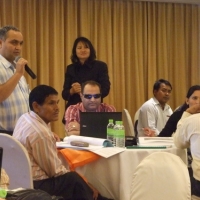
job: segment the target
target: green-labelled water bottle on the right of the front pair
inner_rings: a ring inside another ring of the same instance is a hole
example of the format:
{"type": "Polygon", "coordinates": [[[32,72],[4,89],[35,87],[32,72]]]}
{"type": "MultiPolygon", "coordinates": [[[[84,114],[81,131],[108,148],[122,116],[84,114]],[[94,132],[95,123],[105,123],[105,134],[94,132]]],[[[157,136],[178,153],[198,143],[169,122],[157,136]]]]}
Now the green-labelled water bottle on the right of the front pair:
{"type": "Polygon", "coordinates": [[[125,147],[125,130],[122,121],[118,121],[116,128],[116,147],[125,147]]]}

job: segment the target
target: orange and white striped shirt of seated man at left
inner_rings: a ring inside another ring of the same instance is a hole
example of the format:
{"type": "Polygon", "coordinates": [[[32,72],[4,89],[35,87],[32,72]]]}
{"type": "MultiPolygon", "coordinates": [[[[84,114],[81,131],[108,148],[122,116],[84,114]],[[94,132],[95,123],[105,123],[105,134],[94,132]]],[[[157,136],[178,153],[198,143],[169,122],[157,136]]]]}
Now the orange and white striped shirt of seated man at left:
{"type": "Polygon", "coordinates": [[[56,140],[50,125],[47,125],[33,111],[25,113],[19,118],[13,136],[28,151],[34,181],[56,177],[68,172],[58,158],[56,140]]]}

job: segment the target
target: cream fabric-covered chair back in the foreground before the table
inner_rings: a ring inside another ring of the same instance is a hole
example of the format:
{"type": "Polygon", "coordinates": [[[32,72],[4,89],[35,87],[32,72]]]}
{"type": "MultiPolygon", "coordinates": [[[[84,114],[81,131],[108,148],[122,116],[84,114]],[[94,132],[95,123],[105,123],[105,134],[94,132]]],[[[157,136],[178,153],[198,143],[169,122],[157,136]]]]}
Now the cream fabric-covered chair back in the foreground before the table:
{"type": "Polygon", "coordinates": [[[168,152],[155,152],[137,166],[130,200],[149,199],[191,199],[189,173],[180,157],[168,152]]]}

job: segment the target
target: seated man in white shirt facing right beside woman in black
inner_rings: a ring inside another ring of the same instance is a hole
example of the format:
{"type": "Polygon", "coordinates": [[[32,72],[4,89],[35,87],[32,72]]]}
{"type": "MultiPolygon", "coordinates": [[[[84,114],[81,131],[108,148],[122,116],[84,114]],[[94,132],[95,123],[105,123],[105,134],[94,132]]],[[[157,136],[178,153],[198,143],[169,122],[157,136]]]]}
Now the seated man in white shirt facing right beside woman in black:
{"type": "Polygon", "coordinates": [[[154,97],[146,101],[139,109],[138,136],[147,136],[148,131],[155,131],[159,135],[172,114],[167,104],[171,96],[172,86],[169,81],[159,79],[153,86],[154,97]]]}

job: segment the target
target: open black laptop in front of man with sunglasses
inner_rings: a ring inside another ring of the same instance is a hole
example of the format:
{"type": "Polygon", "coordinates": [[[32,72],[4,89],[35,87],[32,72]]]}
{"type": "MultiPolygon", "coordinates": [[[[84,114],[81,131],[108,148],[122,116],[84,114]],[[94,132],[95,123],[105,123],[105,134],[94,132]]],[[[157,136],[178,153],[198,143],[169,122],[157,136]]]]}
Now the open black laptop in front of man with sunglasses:
{"type": "Polygon", "coordinates": [[[122,121],[122,112],[80,112],[80,136],[106,139],[109,119],[122,121]]]}

